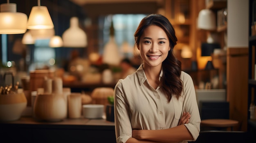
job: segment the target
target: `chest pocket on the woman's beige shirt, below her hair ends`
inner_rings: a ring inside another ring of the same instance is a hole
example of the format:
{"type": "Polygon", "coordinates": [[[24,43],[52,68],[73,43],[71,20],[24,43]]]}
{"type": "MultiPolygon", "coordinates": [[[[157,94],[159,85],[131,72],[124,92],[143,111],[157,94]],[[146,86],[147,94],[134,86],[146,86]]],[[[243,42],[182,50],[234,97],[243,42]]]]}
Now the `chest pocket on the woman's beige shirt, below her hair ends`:
{"type": "Polygon", "coordinates": [[[182,117],[182,112],[184,112],[183,111],[184,98],[183,96],[179,97],[179,99],[177,99],[176,97],[172,97],[171,101],[173,102],[174,118],[177,120],[180,120],[180,118],[182,117]]]}

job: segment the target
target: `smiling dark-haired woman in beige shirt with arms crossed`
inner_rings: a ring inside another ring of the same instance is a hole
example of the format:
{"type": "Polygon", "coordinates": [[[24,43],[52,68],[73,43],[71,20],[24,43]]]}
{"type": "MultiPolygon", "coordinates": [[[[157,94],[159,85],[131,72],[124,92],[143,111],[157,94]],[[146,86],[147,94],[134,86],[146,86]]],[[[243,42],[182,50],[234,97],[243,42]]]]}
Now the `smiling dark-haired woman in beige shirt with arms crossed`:
{"type": "Polygon", "coordinates": [[[191,77],[174,54],[173,26],[163,15],[142,19],[135,44],[143,64],[115,86],[117,143],[187,143],[200,132],[191,77]]]}

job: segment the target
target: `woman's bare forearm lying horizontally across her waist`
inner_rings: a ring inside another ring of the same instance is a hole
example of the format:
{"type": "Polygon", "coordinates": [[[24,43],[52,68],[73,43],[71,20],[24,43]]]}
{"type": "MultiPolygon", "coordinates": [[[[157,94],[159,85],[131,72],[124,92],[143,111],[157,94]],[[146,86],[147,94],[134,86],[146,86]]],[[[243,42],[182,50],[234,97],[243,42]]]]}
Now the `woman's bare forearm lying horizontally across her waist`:
{"type": "Polygon", "coordinates": [[[193,136],[185,125],[164,130],[137,130],[135,138],[139,140],[150,140],[159,142],[179,142],[193,140],[193,136]],[[138,132],[137,132],[138,131],[138,132]]]}

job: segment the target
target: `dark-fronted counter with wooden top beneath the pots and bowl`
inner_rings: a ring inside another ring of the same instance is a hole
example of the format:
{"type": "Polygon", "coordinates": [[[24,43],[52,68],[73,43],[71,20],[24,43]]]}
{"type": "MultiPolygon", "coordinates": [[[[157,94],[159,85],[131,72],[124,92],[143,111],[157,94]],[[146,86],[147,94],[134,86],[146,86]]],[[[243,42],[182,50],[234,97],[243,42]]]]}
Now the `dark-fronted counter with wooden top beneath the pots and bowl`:
{"type": "Polygon", "coordinates": [[[105,119],[39,122],[31,117],[0,123],[1,143],[115,143],[115,123],[105,119]]]}

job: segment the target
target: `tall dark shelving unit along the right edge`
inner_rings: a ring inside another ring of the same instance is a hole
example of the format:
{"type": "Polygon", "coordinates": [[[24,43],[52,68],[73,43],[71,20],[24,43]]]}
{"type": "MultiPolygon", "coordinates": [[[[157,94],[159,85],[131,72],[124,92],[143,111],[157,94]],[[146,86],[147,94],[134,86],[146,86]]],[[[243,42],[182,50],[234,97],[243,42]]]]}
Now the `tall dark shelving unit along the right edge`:
{"type": "MultiPolygon", "coordinates": [[[[251,24],[256,19],[253,18],[253,15],[256,14],[254,11],[256,7],[254,6],[256,0],[249,0],[249,55],[248,55],[248,131],[256,133],[256,120],[250,119],[250,104],[256,104],[256,80],[255,80],[255,68],[256,64],[256,35],[252,35],[251,24]]],[[[254,137],[255,138],[255,137],[254,137]]]]}

